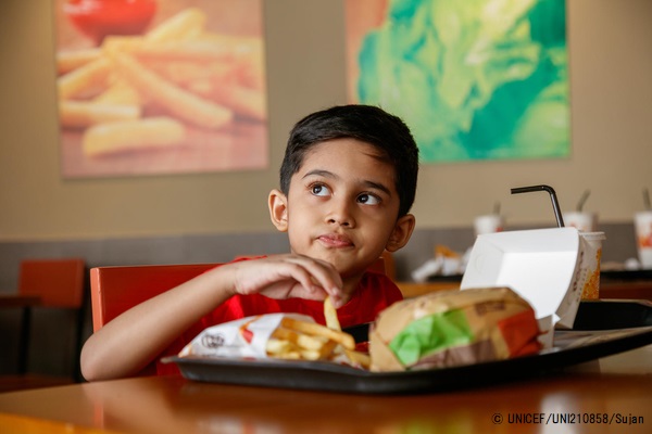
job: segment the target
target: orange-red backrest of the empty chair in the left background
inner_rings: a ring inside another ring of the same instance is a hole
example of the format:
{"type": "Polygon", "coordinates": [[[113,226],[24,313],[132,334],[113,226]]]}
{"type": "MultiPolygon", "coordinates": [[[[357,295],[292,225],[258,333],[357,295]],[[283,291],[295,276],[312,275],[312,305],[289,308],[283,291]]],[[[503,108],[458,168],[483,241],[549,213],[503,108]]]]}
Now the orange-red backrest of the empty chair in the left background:
{"type": "Polygon", "coordinates": [[[86,263],[82,258],[24,259],[18,292],[38,296],[40,306],[80,308],[85,277],[86,263]]]}

